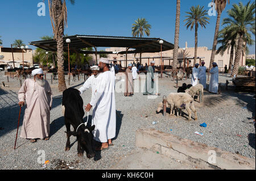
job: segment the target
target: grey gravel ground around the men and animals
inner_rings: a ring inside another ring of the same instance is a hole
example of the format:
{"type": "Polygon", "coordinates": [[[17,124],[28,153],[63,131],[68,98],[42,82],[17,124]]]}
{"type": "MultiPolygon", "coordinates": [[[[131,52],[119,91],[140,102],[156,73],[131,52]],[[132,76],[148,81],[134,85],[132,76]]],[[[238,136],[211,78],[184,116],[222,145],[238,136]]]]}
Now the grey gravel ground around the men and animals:
{"type": "MultiPolygon", "coordinates": [[[[81,81],[71,81],[68,87],[79,88],[81,81]]],[[[118,78],[119,79],[119,78],[118,78]]],[[[204,91],[203,102],[195,101],[198,120],[187,121],[187,112],[183,117],[156,113],[156,107],[162,101],[163,95],[176,92],[176,82],[172,78],[159,79],[159,92],[161,96],[156,99],[148,99],[141,92],[136,92],[132,97],[125,97],[123,93],[115,93],[117,110],[117,136],[113,140],[114,146],[108,150],[99,151],[92,159],[77,157],[77,141],[71,137],[71,150],[65,152],[67,138],[64,131],[64,117],[61,112],[61,95],[57,90],[57,81],[51,85],[53,90],[53,106],[51,110],[51,137],[48,141],[38,140],[32,144],[29,140],[19,138],[23,121],[23,112],[20,115],[19,133],[14,148],[16,128],[18,124],[18,95],[19,81],[14,78],[7,78],[0,73],[0,169],[110,169],[135,147],[135,132],[139,128],[155,128],[159,131],[174,134],[182,138],[201,142],[232,153],[241,154],[245,157],[255,158],[255,127],[251,123],[243,123],[255,116],[255,94],[234,92],[234,86],[227,74],[220,74],[219,82],[225,85],[229,79],[229,91],[221,94],[210,94],[204,91]],[[10,87],[2,87],[2,81],[10,87]],[[152,125],[152,121],[159,121],[152,125]],[[206,123],[207,127],[200,127],[206,123]],[[171,130],[170,130],[171,129],[171,130]],[[203,136],[195,132],[204,133],[203,136]],[[240,136],[237,136],[240,135],[240,136]],[[49,160],[46,167],[42,167],[43,155],[49,160]]],[[[117,80],[118,81],[118,80],[117,80]]],[[[51,83],[51,80],[48,79],[51,83]]],[[[191,79],[179,82],[181,84],[191,82],[191,79]]],[[[120,83],[120,82],[119,82],[120,83]]],[[[68,85],[68,82],[67,82],[68,85]]],[[[117,83],[118,85],[118,83],[117,83]]],[[[82,94],[84,105],[90,100],[91,93],[86,91],[82,94]]],[[[168,109],[167,109],[168,111],[168,109]]],[[[92,111],[89,112],[90,115],[92,111]]],[[[89,123],[91,116],[89,115],[89,123]]],[[[84,120],[87,119],[85,115],[84,120]]]]}

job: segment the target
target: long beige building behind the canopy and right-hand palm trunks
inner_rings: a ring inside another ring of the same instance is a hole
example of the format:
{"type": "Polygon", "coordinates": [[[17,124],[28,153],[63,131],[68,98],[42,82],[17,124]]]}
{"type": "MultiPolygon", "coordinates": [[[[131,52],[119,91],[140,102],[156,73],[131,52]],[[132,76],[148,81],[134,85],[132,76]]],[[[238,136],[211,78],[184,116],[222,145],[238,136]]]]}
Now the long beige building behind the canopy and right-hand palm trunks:
{"type": "MultiPolygon", "coordinates": [[[[112,51],[112,52],[120,52],[120,51],[125,51],[126,48],[106,48],[106,51],[112,51]]],[[[210,64],[210,55],[212,53],[212,50],[208,50],[207,47],[198,47],[197,48],[197,63],[201,61],[205,62],[205,66],[209,68],[210,64]]],[[[185,50],[183,48],[179,48],[178,52],[178,60],[179,60],[179,65],[178,66],[184,66],[184,60],[185,60],[185,66],[187,67],[187,63],[189,64],[188,66],[193,66],[193,57],[195,54],[195,48],[194,47],[187,47],[187,43],[185,45],[185,50]]],[[[117,63],[119,64],[121,62],[122,66],[125,66],[125,56],[126,54],[109,54],[109,59],[110,60],[117,60],[117,63]]],[[[156,53],[142,53],[142,64],[145,65],[148,62],[151,62],[152,60],[155,61],[155,65],[159,66],[160,65],[160,56],[161,52],[156,52],[156,53]]],[[[173,50],[167,50],[162,52],[162,60],[164,62],[164,65],[172,65],[173,61],[173,50]]],[[[137,58],[138,62],[139,61],[139,53],[137,54],[127,54],[127,64],[132,63],[133,61],[137,63],[137,58]]],[[[218,64],[218,68],[224,68],[225,65],[228,66],[229,68],[229,58],[230,58],[230,50],[226,50],[226,52],[221,55],[221,54],[216,54],[215,55],[215,60],[218,64]]],[[[240,60],[240,66],[245,65],[245,56],[241,57],[240,60]]]]}

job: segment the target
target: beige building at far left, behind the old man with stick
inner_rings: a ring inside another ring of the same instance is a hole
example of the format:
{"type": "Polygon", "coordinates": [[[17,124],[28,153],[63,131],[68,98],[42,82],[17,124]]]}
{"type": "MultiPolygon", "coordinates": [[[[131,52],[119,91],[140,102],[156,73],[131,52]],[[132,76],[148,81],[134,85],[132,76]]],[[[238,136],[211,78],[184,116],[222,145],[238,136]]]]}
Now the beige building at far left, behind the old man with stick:
{"type": "Polygon", "coordinates": [[[0,46],[0,66],[4,65],[7,66],[8,64],[15,68],[18,68],[20,65],[23,64],[24,60],[24,66],[27,66],[28,68],[33,66],[33,61],[32,61],[32,53],[33,50],[28,48],[28,49],[22,49],[20,48],[5,48],[0,46]],[[13,52],[13,53],[12,53],[13,52]],[[22,55],[23,54],[23,55],[22,55]],[[13,63],[14,60],[14,63],[13,63]]]}

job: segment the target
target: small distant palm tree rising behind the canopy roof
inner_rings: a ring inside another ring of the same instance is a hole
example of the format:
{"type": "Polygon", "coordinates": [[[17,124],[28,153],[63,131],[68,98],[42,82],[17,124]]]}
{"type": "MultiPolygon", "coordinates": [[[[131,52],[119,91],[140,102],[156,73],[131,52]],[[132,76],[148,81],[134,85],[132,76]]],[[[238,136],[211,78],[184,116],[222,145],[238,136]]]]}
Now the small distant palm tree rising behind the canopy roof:
{"type": "MultiPolygon", "coordinates": [[[[150,28],[151,25],[148,24],[145,18],[137,19],[135,20],[135,23],[133,24],[133,27],[131,27],[131,34],[133,37],[142,37],[144,33],[146,33],[147,36],[150,36],[150,28]],[[144,33],[143,33],[144,32],[144,33]]],[[[139,53],[139,58],[141,60],[141,54],[139,53]]]]}

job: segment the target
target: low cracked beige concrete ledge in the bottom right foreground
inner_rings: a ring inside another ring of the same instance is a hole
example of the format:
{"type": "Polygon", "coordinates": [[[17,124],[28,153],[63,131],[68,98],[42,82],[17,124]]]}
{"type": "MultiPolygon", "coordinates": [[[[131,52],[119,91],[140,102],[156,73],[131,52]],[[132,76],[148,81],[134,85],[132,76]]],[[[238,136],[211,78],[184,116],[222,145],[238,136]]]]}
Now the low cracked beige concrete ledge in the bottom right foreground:
{"type": "Polygon", "coordinates": [[[136,146],[159,151],[202,169],[255,170],[255,159],[183,139],[155,129],[138,129],[136,146]]]}

